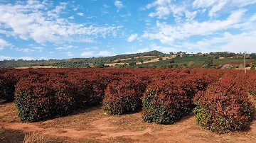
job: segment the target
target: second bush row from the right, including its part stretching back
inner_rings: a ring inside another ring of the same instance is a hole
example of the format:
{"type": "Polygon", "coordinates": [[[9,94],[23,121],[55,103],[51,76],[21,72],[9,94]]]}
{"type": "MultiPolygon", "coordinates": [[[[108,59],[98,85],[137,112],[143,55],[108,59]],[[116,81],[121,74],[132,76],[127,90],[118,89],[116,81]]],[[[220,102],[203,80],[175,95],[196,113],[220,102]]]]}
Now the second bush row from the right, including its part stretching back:
{"type": "Polygon", "coordinates": [[[193,96],[215,78],[198,76],[187,70],[170,79],[154,81],[143,96],[143,119],[146,122],[173,124],[193,109],[193,96]]]}

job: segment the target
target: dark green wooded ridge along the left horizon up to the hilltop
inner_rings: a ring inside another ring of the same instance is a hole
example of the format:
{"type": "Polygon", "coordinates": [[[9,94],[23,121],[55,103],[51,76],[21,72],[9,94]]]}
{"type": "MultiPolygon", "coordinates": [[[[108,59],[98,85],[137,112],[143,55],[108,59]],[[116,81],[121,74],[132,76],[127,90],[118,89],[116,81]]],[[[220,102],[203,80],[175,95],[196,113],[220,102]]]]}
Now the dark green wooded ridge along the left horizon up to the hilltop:
{"type": "Polygon", "coordinates": [[[0,61],[0,68],[33,67],[33,66],[53,66],[53,67],[101,67],[102,64],[109,64],[114,60],[126,59],[143,56],[164,56],[159,51],[150,51],[129,55],[116,55],[112,57],[92,57],[92,58],[73,58],[73,59],[48,59],[48,60],[4,60],[0,61]]]}

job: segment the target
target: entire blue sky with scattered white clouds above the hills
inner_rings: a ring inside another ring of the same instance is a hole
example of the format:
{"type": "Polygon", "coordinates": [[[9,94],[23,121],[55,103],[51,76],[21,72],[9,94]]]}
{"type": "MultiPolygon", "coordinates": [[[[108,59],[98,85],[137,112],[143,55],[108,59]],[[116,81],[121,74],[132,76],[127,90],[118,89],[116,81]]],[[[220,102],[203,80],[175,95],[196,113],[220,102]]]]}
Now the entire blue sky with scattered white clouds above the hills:
{"type": "Polygon", "coordinates": [[[256,0],[0,0],[0,60],[256,52],[256,0]]]}

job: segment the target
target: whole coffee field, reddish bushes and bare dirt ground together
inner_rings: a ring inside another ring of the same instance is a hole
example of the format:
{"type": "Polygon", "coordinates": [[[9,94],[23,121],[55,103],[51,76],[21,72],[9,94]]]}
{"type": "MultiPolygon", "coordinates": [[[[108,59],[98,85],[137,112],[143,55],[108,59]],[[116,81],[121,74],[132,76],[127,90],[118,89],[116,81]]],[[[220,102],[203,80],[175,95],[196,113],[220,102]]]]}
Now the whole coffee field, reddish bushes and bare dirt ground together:
{"type": "Polygon", "coordinates": [[[0,69],[0,142],[255,142],[255,81],[252,70],[0,69]]]}

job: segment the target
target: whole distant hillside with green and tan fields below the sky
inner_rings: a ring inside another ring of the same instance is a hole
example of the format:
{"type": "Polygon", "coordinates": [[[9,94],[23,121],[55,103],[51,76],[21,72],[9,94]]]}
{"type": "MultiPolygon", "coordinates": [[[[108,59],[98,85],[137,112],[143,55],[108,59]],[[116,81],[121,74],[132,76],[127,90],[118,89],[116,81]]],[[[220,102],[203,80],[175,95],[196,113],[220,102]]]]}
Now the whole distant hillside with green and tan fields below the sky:
{"type": "MultiPolygon", "coordinates": [[[[210,52],[188,54],[187,52],[170,52],[164,54],[159,51],[150,51],[137,54],[116,55],[112,57],[92,57],[73,59],[48,60],[4,60],[0,61],[0,68],[17,67],[202,67],[208,62],[210,68],[220,67],[223,64],[243,64],[245,55],[233,52],[210,52]],[[191,66],[193,65],[193,66],[191,66]]],[[[246,55],[247,66],[256,63],[256,54],[246,55]]],[[[251,66],[251,65],[250,65],[251,66]]]]}

